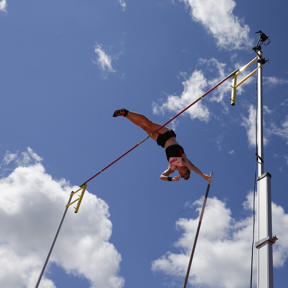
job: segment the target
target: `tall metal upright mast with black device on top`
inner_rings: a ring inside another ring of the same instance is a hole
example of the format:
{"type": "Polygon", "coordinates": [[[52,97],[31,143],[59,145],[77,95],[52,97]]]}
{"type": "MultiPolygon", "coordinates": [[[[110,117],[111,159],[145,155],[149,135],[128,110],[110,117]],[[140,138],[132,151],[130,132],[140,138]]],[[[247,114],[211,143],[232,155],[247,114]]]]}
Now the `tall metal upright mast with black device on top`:
{"type": "Polygon", "coordinates": [[[259,41],[253,49],[257,53],[257,160],[258,160],[258,237],[255,243],[257,248],[257,288],[273,288],[273,251],[272,245],[277,240],[272,237],[272,209],[271,209],[271,174],[264,173],[263,149],[263,92],[262,92],[262,65],[267,62],[262,56],[261,44],[270,42],[269,35],[259,31],[259,41]],[[267,42],[269,41],[269,42],[267,42]],[[261,44],[259,45],[259,43],[261,44]],[[259,46],[258,46],[259,45],[259,46]]]}

